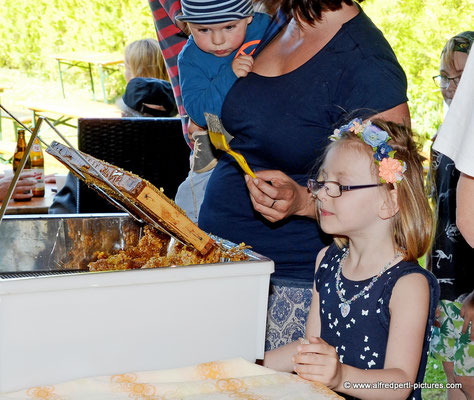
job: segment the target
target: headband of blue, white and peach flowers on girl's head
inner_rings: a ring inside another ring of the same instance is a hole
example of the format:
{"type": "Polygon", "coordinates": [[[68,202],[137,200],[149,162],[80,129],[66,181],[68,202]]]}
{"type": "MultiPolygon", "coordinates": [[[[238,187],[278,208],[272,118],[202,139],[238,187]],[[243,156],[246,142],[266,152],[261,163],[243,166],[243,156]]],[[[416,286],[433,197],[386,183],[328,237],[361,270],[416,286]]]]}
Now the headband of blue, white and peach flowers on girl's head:
{"type": "Polygon", "coordinates": [[[347,125],[335,129],[329,139],[332,141],[339,140],[351,133],[372,147],[375,164],[379,167],[380,182],[399,183],[403,179],[403,173],[407,169],[406,163],[394,157],[396,151],[387,144],[391,139],[387,132],[376,125],[372,125],[370,120],[363,123],[360,118],[355,118],[347,125]]]}

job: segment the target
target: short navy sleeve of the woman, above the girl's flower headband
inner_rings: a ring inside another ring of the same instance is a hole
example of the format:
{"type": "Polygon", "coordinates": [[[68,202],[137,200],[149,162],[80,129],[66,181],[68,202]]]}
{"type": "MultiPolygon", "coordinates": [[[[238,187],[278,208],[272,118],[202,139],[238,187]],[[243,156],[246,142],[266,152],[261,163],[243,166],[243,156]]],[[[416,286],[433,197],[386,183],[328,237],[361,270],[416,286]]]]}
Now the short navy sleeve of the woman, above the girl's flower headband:
{"type": "Polygon", "coordinates": [[[340,76],[339,104],[361,118],[389,110],[408,101],[403,69],[392,60],[369,56],[350,64],[340,76]]]}

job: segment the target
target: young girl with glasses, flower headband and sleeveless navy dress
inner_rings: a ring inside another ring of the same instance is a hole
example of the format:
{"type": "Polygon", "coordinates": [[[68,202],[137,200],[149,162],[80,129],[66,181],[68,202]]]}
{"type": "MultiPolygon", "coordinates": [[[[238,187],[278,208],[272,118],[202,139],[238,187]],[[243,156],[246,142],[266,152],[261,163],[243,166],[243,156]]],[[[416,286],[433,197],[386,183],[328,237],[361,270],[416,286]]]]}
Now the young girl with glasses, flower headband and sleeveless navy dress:
{"type": "Polygon", "coordinates": [[[433,229],[421,158],[409,128],[382,120],[353,120],[331,139],[308,182],[335,243],[316,260],[306,344],[267,352],[265,366],[357,398],[421,398],[439,297],[416,261],[433,229]]]}

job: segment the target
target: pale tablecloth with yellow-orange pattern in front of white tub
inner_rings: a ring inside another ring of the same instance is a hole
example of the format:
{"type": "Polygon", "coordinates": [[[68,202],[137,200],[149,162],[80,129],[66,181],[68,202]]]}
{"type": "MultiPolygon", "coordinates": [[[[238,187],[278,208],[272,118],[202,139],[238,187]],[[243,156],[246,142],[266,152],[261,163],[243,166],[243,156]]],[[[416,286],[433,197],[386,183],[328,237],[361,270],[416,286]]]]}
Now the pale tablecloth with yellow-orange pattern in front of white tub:
{"type": "Polygon", "coordinates": [[[341,399],[327,387],[243,359],[163,371],[100,376],[4,393],[1,399],[197,400],[341,399]]]}

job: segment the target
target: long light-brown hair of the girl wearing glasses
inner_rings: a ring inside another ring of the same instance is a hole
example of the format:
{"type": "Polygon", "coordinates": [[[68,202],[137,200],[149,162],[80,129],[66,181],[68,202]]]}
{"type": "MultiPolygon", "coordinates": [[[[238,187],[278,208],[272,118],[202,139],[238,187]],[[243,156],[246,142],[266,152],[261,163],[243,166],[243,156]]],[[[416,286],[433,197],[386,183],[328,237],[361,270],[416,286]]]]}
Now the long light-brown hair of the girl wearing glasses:
{"type": "MultiPolygon", "coordinates": [[[[424,188],[422,165],[424,157],[420,155],[414,133],[409,127],[382,119],[374,119],[372,124],[388,133],[391,138],[388,144],[396,151],[394,158],[406,165],[403,179],[399,183],[387,183],[383,187],[387,191],[387,196],[394,188],[398,194],[398,212],[391,219],[394,242],[398,248],[404,250],[405,260],[416,261],[429,250],[434,235],[434,215],[424,188]]],[[[365,152],[374,160],[372,147],[355,134],[344,135],[341,139],[331,142],[325,154],[336,146],[348,146],[365,152]]],[[[372,172],[377,179],[380,179],[379,167],[375,162],[371,165],[372,172]]],[[[345,237],[336,237],[335,241],[340,247],[347,244],[345,237]]]]}

